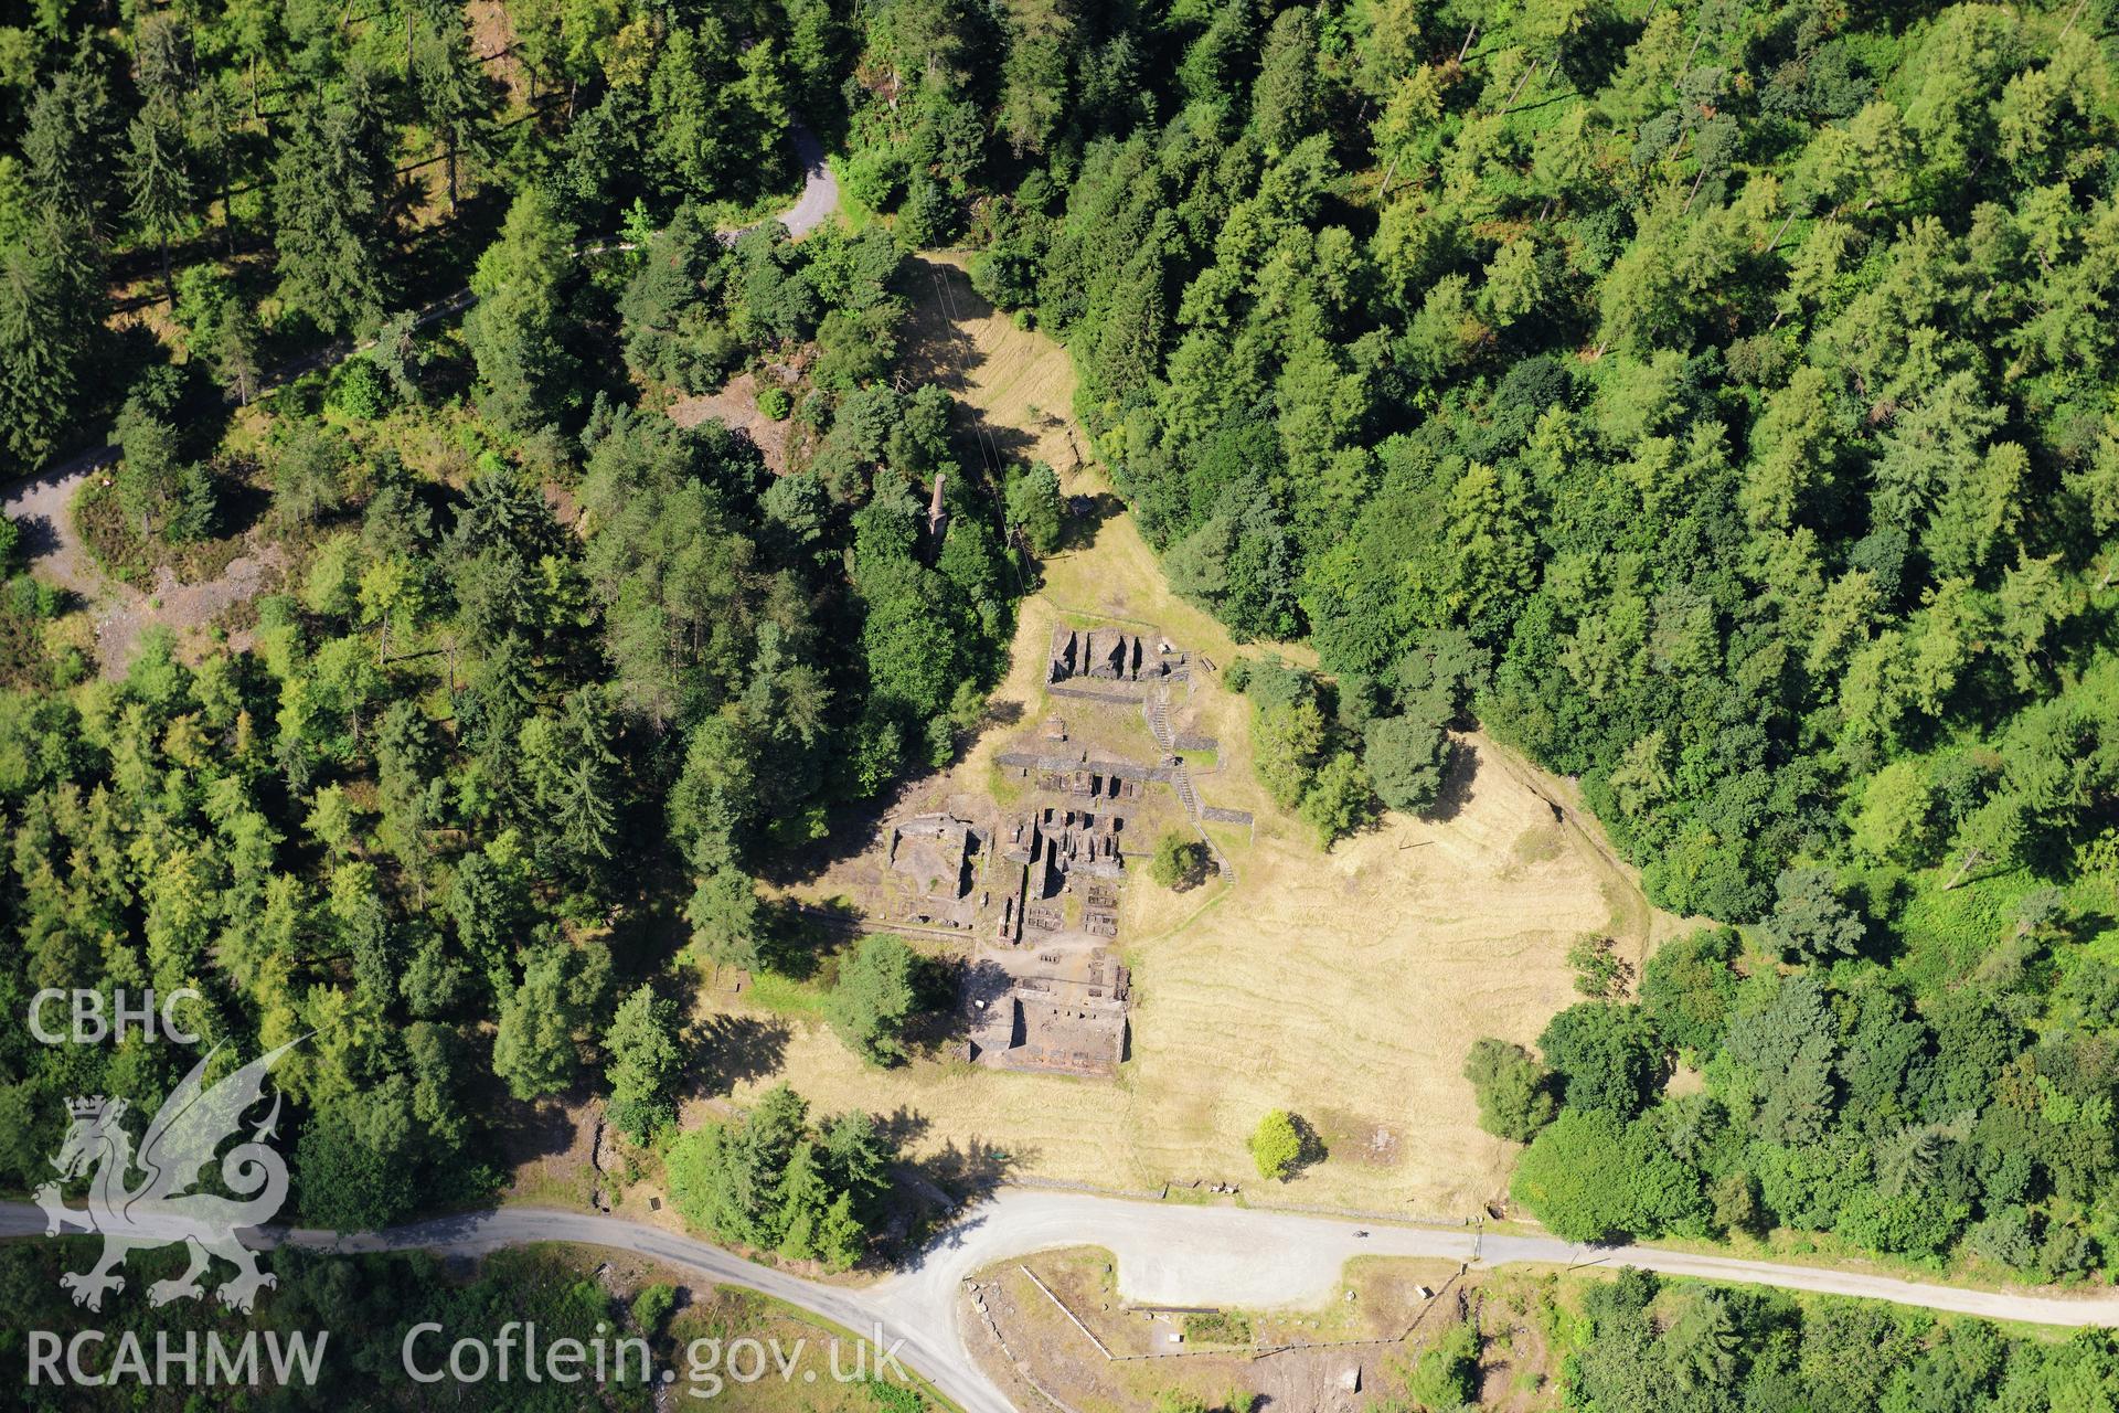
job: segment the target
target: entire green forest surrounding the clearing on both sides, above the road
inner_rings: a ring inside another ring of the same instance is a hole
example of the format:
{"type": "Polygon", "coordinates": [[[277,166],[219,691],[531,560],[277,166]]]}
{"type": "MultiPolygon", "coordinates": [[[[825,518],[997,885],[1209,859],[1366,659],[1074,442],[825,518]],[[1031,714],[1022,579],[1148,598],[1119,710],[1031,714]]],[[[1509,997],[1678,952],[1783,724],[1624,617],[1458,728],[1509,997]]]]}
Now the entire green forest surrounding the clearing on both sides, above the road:
{"type": "MultiPolygon", "coordinates": [[[[320,1222],[477,1197],[500,1095],[665,1127],[657,964],[799,945],[761,860],[951,756],[1053,536],[888,377],[960,244],[1176,589],[1316,650],[1231,680],[1324,843],[1477,725],[1716,924],[1475,1053],[1551,1229],[2119,1267],[2108,0],[504,8],[506,61],[426,0],[0,8],[0,449],[117,445],[112,572],[299,566],[123,680],[11,583],[11,1008],[314,1030],[320,1222]],[[723,239],[797,121],[858,220],[723,239]],[[793,475],[655,400],[809,345],[793,475]]],[[[888,1059],[886,1010],[835,1023],[888,1059]]],[[[0,1182],[172,1063],[8,1032],[0,1182]]],[[[691,1205],[850,1258],[873,1125],[761,1110],[691,1205]]]]}

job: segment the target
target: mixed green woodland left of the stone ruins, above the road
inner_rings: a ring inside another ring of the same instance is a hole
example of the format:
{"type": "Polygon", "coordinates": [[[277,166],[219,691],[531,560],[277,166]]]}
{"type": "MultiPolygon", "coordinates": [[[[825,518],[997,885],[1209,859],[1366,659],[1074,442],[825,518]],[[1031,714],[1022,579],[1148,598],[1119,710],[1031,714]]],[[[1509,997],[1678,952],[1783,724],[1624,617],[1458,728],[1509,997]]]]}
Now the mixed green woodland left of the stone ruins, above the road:
{"type": "MultiPolygon", "coordinates": [[[[532,1102],[665,1135],[672,958],[797,964],[761,856],[951,756],[1019,585],[949,396],[884,377],[896,239],[761,220],[795,114],[835,129],[843,17],[519,4],[504,44],[496,15],[0,13],[11,462],[108,434],[72,513],[112,578],[242,532],[288,566],[121,678],[11,580],[0,991],[193,987],[229,1057],[307,1036],[295,1195],[341,1229],[487,1197],[532,1102]],[[742,366],[801,392],[771,388],[788,475],[663,411],[742,366]]],[[[907,998],[841,991],[892,1057],[907,998]]],[[[49,1176],[66,1095],[153,1114],[191,1057],[6,1027],[0,1184],[49,1176]]],[[[818,1114],[784,1180],[780,1108],[731,1135],[773,1212],[725,1235],[850,1265],[894,1148],[818,1114]]]]}

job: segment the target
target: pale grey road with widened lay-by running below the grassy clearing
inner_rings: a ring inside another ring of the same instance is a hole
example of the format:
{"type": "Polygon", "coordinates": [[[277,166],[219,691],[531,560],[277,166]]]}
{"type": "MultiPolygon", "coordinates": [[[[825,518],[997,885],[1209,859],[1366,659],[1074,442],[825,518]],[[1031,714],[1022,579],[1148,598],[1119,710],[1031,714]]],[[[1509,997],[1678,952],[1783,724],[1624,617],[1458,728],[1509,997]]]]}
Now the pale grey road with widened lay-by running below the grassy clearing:
{"type": "MultiPolygon", "coordinates": [[[[44,1214],[0,1203],[0,1237],[40,1235],[44,1214]]],[[[898,1345],[898,1358],[956,1400],[964,1413],[1011,1413],[979,1369],[962,1324],[966,1277],[1000,1260],[1066,1246],[1102,1246],[1117,1258],[1119,1292],[1138,1305],[1271,1307],[1322,1305],[1354,1256],[1420,1256],[1481,1267],[1640,1267],[1668,1275],[1780,1286],[1820,1294],[1920,1305],[1988,1320],[2058,1326],[2119,1326],[2119,1294],[2064,1296],[1971,1290],[1863,1271],[1776,1265],[1653,1246],[1574,1246],[1557,1237],[1479,1233],[1468,1227],[1369,1224],[1248,1208],[1174,1203],[1002,1188],[869,1286],[833,1286],[754,1265],[710,1241],[661,1227],[587,1212],[498,1208],[441,1216],[369,1235],[269,1229],[267,1244],[335,1252],[432,1250],[481,1254],[528,1241],[606,1246],[744,1286],[833,1320],[856,1335],[898,1345]],[[1358,1233],[1367,1235],[1358,1235],[1358,1233]]]]}

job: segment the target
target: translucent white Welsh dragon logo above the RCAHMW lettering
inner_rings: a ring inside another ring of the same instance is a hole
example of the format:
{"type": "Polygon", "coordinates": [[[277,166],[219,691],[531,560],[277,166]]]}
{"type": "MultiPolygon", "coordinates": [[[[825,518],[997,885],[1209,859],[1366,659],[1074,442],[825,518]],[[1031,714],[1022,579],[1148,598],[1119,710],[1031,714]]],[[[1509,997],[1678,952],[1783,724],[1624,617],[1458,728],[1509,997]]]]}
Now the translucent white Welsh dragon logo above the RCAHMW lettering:
{"type": "Polygon", "coordinates": [[[208,1085],[206,1066],[220,1051],[216,1044],[146,1125],[138,1157],[121,1123],[125,1099],[102,1095],[68,1099],[72,1127],[66,1131],[59,1157],[51,1159],[59,1180],[36,1188],[36,1205],[44,1210],[44,1235],[55,1237],[66,1227],[81,1227],[104,1237],[102,1260],[89,1271],[68,1271],[59,1277],[59,1286],[74,1292],[74,1305],[102,1309],[106,1290],[125,1288],[125,1277],[117,1269],[125,1265],[127,1254],[178,1241],[191,1248],[191,1267],[174,1280],[148,1286],[150,1305],[195,1301],[206,1294],[199,1277],[212,1267],[214,1256],[237,1271],[218,1290],[220,1303],[231,1309],[248,1313],[256,1292],[278,1284],[259,1271],[256,1256],[235,1239],[237,1227],[269,1220],[286,1201],[286,1163],[265,1144],[280,1119],[278,1093],[271,1112],[250,1131],[250,1142],[229,1148],[220,1159],[220,1182],[235,1197],[191,1188],[220,1144],[242,1127],[244,1112],[265,1097],[265,1076],[295,1044],[299,1040],[208,1085]],[[144,1180],[131,1186],[136,1167],[144,1180]],[[59,1182],[89,1169],[95,1169],[89,1180],[89,1205],[68,1208],[59,1197],[59,1182]]]}

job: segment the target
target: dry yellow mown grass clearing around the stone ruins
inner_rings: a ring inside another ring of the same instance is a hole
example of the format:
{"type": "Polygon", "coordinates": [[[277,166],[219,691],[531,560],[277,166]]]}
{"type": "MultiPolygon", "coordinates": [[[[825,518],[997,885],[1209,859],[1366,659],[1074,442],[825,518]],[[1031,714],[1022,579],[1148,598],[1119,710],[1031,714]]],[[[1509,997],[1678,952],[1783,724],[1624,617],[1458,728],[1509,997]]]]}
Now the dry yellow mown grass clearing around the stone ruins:
{"type": "MultiPolygon", "coordinates": [[[[1013,432],[1036,445],[1070,491],[1106,489],[1093,466],[1068,455],[1070,443],[1087,449],[1083,432],[1047,426],[1047,413],[1070,403],[1066,354],[981,314],[962,275],[951,297],[958,318],[943,335],[934,301],[922,307],[915,352],[934,352],[937,337],[975,350],[956,392],[1002,441],[1013,432]]],[[[1002,718],[1011,703],[1017,722],[1066,712],[1040,684],[1062,612],[1076,623],[1155,623],[1221,665],[1235,655],[1221,625],[1170,593],[1132,517],[1115,515],[1093,540],[1053,557],[1043,591],[1023,604],[996,691],[1002,718]]],[[[1471,769],[1447,818],[1388,816],[1324,854],[1252,780],[1246,703],[1214,672],[1193,691],[1199,729],[1221,737],[1221,769],[1197,780],[1199,792],[1259,822],[1254,837],[1216,835],[1235,883],[1170,894],[1142,873],[1127,886],[1121,947],[1136,1008],[1117,1085],[934,1061],[873,1070],[822,1025],[790,1021],[780,1072],[746,1083],[735,1099],[786,1078],[826,1112],[905,1110],[924,1121],[915,1155],[998,1148],[1017,1176],[1119,1188],[1223,1180],[1265,1201],[1452,1216],[1498,1197],[1513,1148],[1477,1127],[1460,1078],[1466,1049],[1490,1034],[1530,1042],[1574,1000],[1566,949],[1579,934],[1610,930],[1638,964],[1674,919],[1649,909],[1564,782],[1481,737],[1464,741],[1471,769]],[[1333,1152],[1265,1193],[1246,1138],[1269,1108],[1310,1119],[1333,1152]]],[[[985,733],[956,769],[909,786],[903,803],[985,788],[992,752],[1019,731],[985,733]]],[[[714,1004],[727,1006],[725,994],[714,1004]]]]}

